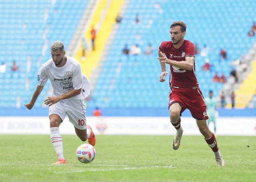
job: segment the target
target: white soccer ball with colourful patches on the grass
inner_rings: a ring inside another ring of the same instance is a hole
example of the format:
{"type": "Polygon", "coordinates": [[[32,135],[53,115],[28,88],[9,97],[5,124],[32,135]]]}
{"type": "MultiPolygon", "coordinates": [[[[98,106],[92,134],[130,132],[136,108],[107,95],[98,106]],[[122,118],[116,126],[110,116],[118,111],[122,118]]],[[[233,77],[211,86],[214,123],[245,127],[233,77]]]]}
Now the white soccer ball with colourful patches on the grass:
{"type": "Polygon", "coordinates": [[[90,144],[84,143],[76,149],[76,157],[82,163],[90,163],[94,160],[96,151],[90,144]]]}

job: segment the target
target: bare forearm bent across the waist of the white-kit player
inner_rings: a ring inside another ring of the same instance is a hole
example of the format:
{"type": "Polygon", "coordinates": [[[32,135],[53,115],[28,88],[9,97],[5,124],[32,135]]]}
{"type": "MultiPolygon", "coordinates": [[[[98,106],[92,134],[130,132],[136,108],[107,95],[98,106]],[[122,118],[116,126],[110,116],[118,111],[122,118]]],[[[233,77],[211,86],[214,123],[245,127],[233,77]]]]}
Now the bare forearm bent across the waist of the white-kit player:
{"type": "Polygon", "coordinates": [[[81,88],[78,90],[74,89],[74,90],[71,90],[70,92],[67,92],[66,94],[63,94],[60,96],[48,97],[46,100],[44,100],[44,104],[52,106],[52,104],[56,104],[60,100],[72,98],[80,93],[81,93],[81,88]]]}

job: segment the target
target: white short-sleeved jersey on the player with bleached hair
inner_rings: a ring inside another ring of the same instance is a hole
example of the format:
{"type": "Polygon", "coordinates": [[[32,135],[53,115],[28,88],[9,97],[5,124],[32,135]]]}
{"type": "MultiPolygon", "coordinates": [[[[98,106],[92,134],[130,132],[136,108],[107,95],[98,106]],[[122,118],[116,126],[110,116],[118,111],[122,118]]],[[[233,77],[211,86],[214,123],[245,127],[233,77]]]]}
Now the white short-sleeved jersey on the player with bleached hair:
{"type": "Polygon", "coordinates": [[[90,94],[88,80],[82,74],[80,63],[72,57],[66,57],[67,62],[62,67],[56,67],[52,59],[46,61],[38,71],[38,85],[44,86],[49,78],[52,83],[53,96],[63,95],[71,90],[82,88],[80,94],[70,98],[82,100],[90,94]]]}

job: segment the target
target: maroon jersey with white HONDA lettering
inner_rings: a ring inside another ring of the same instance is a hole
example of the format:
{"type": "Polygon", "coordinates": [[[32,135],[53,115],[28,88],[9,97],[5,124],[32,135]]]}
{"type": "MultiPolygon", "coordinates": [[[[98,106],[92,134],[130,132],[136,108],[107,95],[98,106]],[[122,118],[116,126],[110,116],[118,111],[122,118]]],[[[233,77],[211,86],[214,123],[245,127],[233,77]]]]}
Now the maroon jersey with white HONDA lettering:
{"type": "MultiPolygon", "coordinates": [[[[179,49],[174,48],[171,41],[164,41],[160,45],[160,50],[165,53],[168,59],[174,61],[185,61],[187,56],[195,57],[194,44],[184,40],[179,49]]],[[[183,70],[170,65],[170,88],[172,91],[187,92],[197,90],[198,81],[196,78],[195,63],[191,71],[183,70]]]]}

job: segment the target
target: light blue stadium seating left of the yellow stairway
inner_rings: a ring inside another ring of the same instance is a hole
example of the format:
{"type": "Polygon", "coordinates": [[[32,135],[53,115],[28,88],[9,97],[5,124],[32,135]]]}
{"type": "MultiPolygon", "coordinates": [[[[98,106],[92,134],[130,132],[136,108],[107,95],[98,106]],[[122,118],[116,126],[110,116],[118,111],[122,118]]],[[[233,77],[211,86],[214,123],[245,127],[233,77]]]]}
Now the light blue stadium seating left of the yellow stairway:
{"type": "MultiPolygon", "coordinates": [[[[30,101],[37,85],[40,65],[50,59],[50,44],[60,40],[67,46],[88,0],[26,0],[0,2],[0,63],[7,65],[0,73],[0,107],[20,107],[30,101]],[[12,60],[17,71],[11,71],[12,60]]],[[[50,83],[38,97],[42,106],[50,83]]]]}

